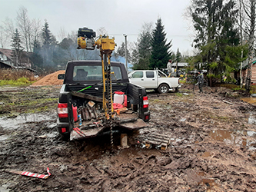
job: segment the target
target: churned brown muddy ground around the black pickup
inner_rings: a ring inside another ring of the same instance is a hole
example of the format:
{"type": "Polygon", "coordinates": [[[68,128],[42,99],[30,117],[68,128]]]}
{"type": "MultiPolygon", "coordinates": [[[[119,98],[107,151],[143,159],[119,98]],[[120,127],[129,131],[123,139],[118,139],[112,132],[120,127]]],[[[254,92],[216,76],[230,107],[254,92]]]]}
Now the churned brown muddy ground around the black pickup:
{"type": "MultiPolygon", "coordinates": [[[[56,87],[25,89],[58,98],[56,87]]],[[[0,98],[19,91],[2,89],[0,98]]],[[[126,149],[118,149],[115,134],[114,154],[109,135],[63,142],[53,108],[8,115],[0,101],[0,191],[256,191],[256,108],[239,97],[219,87],[200,94],[190,85],[180,93],[148,93],[148,127],[129,134],[126,149]],[[152,133],[171,138],[165,151],[138,144],[140,135],[152,133]],[[7,172],[47,174],[47,167],[52,175],[46,180],[7,172]]]]}

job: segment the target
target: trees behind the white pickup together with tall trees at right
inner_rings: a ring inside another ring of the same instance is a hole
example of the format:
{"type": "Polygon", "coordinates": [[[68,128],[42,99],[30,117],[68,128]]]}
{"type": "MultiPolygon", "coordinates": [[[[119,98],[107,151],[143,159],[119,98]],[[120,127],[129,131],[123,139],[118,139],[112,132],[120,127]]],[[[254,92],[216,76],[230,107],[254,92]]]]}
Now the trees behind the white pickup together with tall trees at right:
{"type": "MultiPolygon", "coordinates": [[[[208,71],[211,86],[223,77],[242,83],[241,69],[247,69],[245,88],[251,86],[254,54],[256,0],[191,0],[186,15],[194,28],[194,56],[184,58],[189,67],[208,71]],[[246,65],[242,65],[242,62],[246,65]],[[239,74],[240,78],[235,74],[239,74]],[[234,74],[234,75],[233,75],[234,74]]],[[[155,29],[142,27],[131,53],[133,69],[165,68],[168,59],[180,61],[179,51],[171,51],[171,41],[165,38],[164,25],[158,19],[155,29]]]]}

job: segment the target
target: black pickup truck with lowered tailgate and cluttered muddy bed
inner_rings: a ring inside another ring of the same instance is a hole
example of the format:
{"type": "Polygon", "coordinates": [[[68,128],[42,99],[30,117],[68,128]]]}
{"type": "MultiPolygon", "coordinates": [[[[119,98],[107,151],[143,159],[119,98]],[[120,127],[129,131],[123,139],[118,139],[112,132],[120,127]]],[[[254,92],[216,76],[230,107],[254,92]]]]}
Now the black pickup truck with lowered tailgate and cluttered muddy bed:
{"type": "MultiPolygon", "coordinates": [[[[111,62],[111,72],[113,105],[116,107],[113,130],[145,127],[145,121],[150,118],[145,88],[131,84],[125,65],[119,62],[111,62]],[[118,93],[118,103],[115,103],[115,93],[118,93]]],[[[63,79],[57,118],[62,140],[78,140],[107,133],[110,129],[102,107],[101,61],[69,61],[65,74],[59,74],[58,79],[63,79]]]]}

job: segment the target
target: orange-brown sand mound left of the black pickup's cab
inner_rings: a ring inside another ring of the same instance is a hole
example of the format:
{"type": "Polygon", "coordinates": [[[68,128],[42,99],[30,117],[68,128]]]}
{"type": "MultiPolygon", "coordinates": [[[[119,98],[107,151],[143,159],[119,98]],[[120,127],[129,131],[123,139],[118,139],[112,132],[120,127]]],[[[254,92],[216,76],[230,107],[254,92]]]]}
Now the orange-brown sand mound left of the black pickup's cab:
{"type": "Polygon", "coordinates": [[[63,80],[58,80],[58,74],[65,74],[65,70],[56,71],[52,74],[46,75],[44,78],[39,79],[32,85],[40,86],[40,85],[59,85],[63,84],[63,80]]]}

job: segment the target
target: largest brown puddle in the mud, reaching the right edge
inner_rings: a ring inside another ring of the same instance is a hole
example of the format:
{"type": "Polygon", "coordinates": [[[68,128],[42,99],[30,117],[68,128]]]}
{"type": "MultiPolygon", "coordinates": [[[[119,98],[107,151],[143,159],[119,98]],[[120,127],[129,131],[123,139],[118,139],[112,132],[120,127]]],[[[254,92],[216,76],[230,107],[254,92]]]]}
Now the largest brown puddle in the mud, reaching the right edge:
{"type": "Polygon", "coordinates": [[[255,137],[255,131],[225,131],[215,130],[211,131],[209,136],[215,141],[223,141],[225,144],[235,144],[248,147],[249,150],[256,150],[256,141],[237,136],[235,133],[243,134],[248,137],[255,137]]]}

